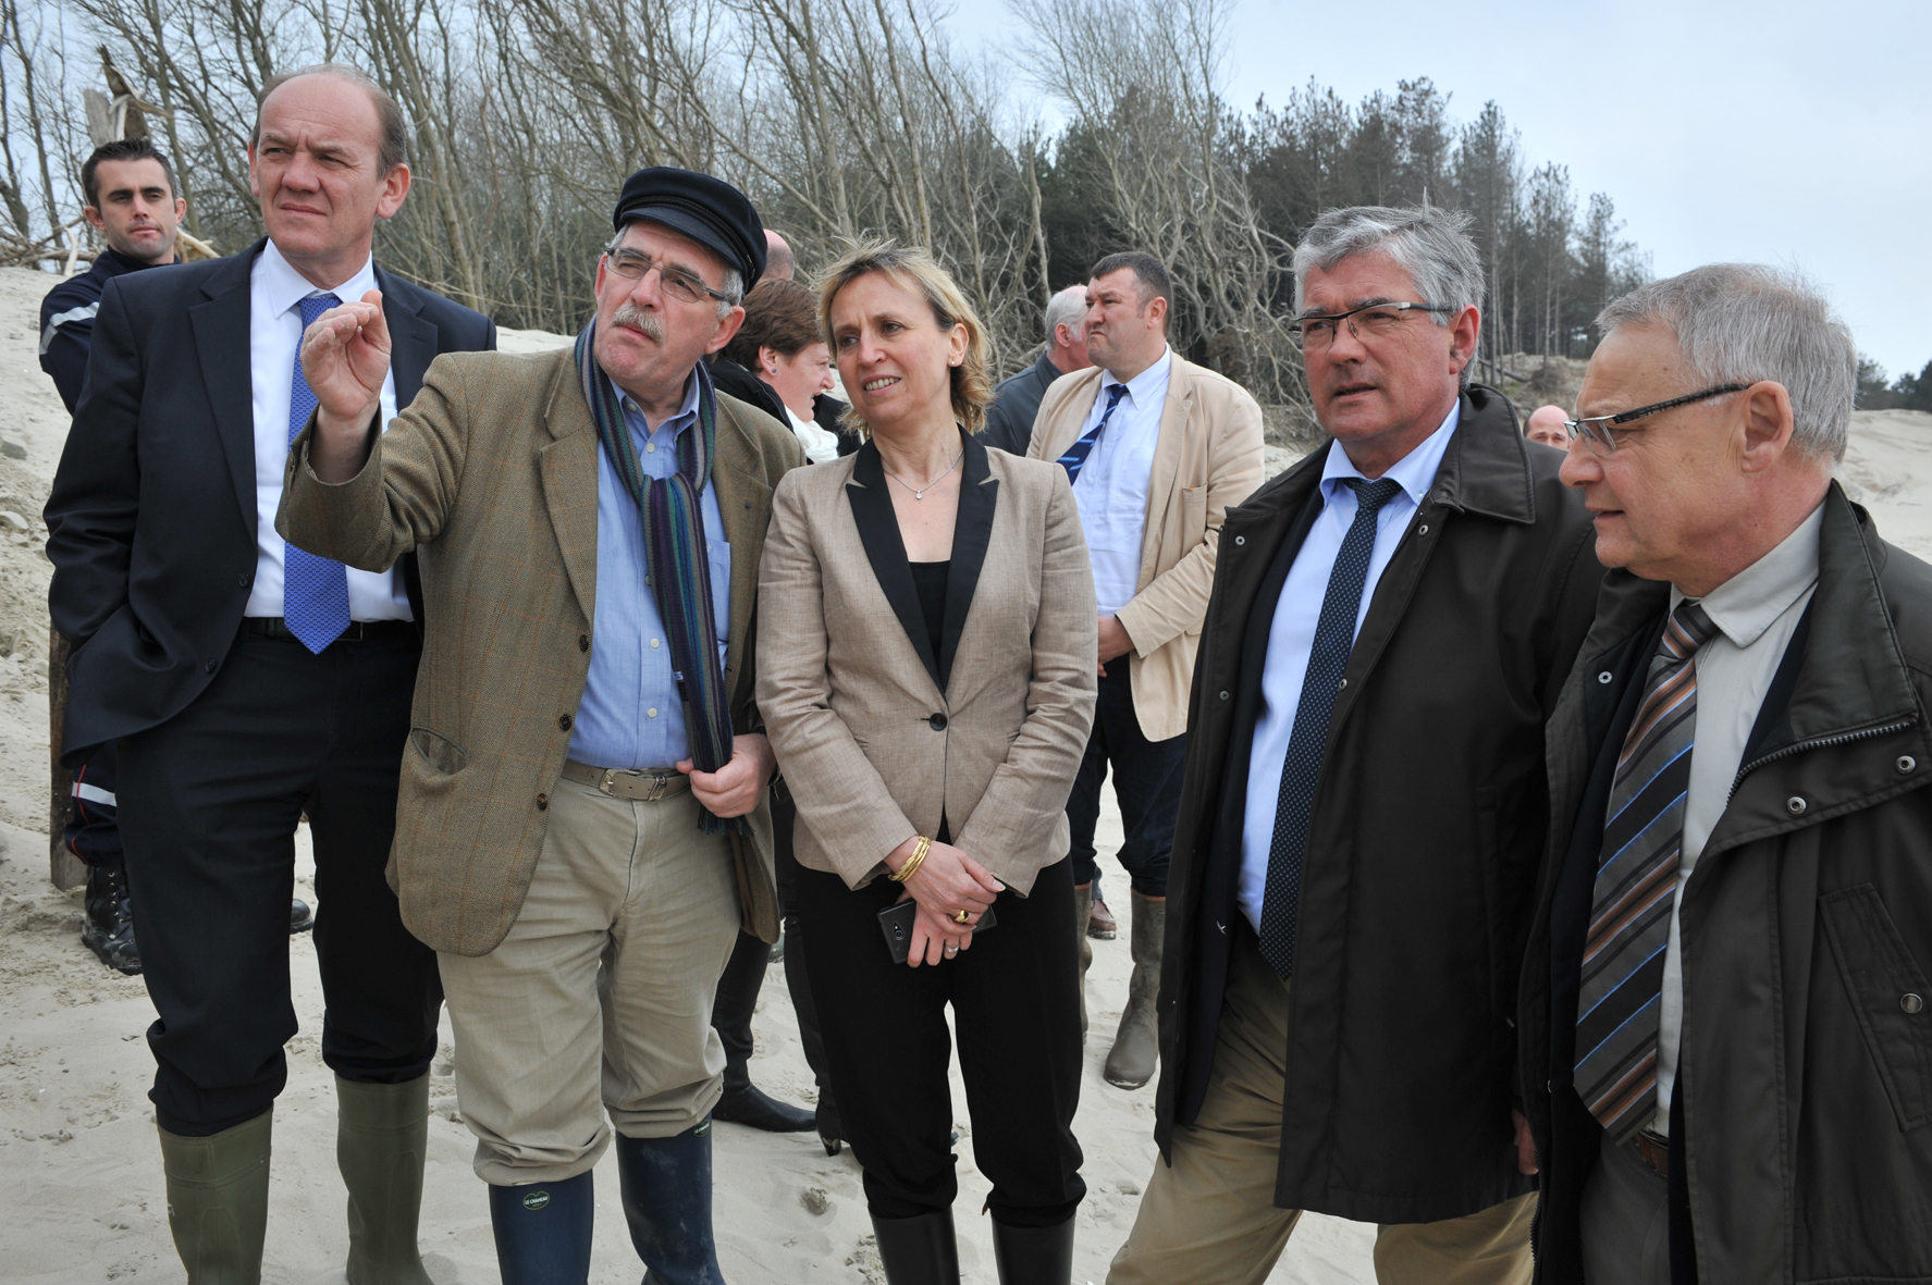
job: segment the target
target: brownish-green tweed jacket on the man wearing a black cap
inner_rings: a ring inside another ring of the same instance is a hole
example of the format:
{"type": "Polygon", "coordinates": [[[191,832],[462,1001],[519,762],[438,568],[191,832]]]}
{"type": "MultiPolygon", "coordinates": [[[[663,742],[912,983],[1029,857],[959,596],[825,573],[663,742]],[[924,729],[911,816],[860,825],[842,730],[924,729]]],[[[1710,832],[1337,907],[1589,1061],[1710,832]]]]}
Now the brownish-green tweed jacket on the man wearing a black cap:
{"type": "MultiPolygon", "coordinates": [[[[790,429],[719,394],[717,489],[732,547],[724,686],[732,727],[761,730],[757,562],[771,491],[804,452],[790,429]]],[[[444,356],[342,485],[290,448],[276,529],[381,570],[415,549],[427,636],[402,754],[388,877],[402,922],[437,951],[489,955],[524,906],[551,788],[583,700],[597,616],[597,427],[570,348],[444,356]]],[[[769,796],[732,837],[744,929],[779,935],[769,796]]]]}

